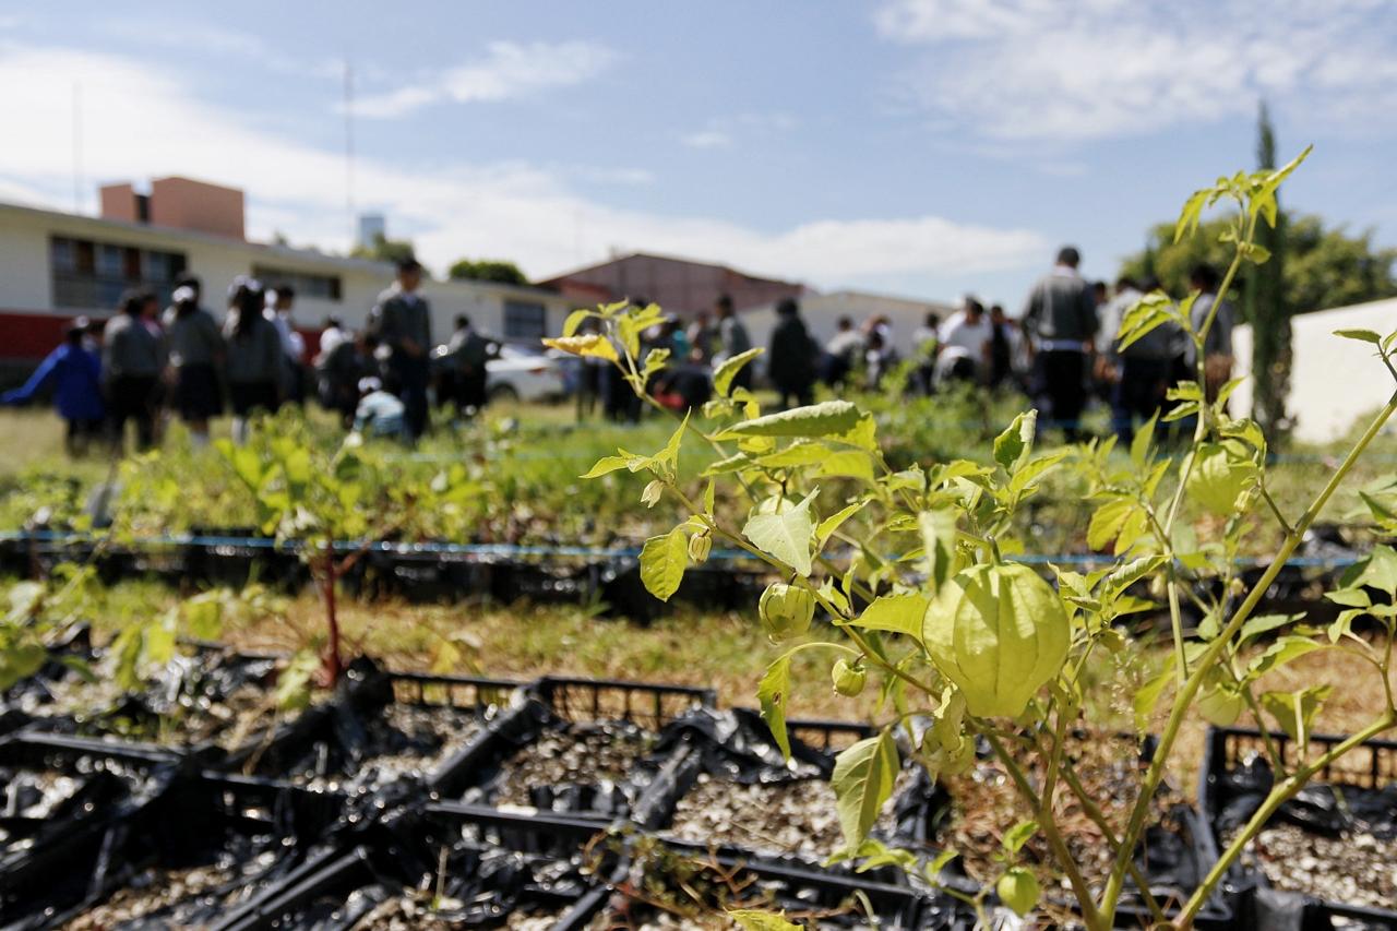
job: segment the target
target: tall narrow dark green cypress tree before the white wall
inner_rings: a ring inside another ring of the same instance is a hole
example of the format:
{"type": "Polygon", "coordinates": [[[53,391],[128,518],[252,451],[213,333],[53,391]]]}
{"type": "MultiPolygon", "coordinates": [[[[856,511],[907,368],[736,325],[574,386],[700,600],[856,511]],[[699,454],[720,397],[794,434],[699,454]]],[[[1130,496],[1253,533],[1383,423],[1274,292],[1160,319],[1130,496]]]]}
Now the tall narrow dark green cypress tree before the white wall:
{"type": "MultiPolygon", "coordinates": [[[[1275,131],[1271,115],[1261,102],[1257,116],[1256,158],[1260,169],[1275,168],[1275,131]]],[[[1271,440],[1287,429],[1285,398],[1291,387],[1291,313],[1285,301],[1285,212],[1278,211],[1275,226],[1261,221],[1256,245],[1271,257],[1250,266],[1245,296],[1246,319],[1252,323],[1252,377],[1256,403],[1252,415],[1271,440]]]]}

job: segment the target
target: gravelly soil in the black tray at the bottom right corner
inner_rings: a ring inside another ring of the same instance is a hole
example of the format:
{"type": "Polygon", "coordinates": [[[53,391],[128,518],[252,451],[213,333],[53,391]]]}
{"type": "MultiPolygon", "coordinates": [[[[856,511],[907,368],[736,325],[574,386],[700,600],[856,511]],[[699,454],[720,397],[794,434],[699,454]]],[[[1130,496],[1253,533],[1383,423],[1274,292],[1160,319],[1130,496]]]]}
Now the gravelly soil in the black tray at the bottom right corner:
{"type": "Polygon", "coordinates": [[[1382,840],[1366,832],[1324,837],[1294,825],[1275,825],[1263,829],[1243,857],[1280,889],[1345,904],[1397,907],[1397,839],[1382,840]]]}

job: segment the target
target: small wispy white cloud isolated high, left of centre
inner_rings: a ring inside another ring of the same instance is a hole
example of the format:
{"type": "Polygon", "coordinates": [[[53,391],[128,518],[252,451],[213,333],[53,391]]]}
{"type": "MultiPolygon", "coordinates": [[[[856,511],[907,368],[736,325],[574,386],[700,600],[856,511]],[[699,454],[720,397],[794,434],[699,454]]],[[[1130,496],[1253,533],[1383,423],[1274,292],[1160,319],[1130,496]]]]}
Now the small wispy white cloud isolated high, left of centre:
{"type": "Polygon", "coordinates": [[[402,116],[429,103],[496,102],[569,87],[605,71],[616,55],[592,42],[492,42],[483,59],[440,71],[425,81],[355,101],[359,116],[402,116]]]}

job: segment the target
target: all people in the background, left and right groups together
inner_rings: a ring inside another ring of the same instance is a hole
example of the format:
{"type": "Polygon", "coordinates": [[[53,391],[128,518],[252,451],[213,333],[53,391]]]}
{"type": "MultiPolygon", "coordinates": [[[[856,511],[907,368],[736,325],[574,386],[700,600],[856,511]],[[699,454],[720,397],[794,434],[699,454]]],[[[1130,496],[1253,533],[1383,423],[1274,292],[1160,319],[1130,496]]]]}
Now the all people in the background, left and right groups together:
{"type": "MultiPolygon", "coordinates": [[[[821,345],[798,302],[785,298],[775,308],[763,359],[766,379],[781,407],[812,403],[821,382],[835,391],[886,389],[897,370],[907,375],[905,390],[925,394],[953,383],[1011,386],[1032,398],[1045,425],[1059,426],[1069,439],[1080,436],[1081,414],[1099,396],[1111,405],[1115,432],[1129,440],[1137,421],[1161,410],[1168,386],[1197,372],[1196,347],[1179,326],[1165,324],[1122,348],[1122,319],[1158,284],[1123,275],[1112,294],[1104,282],[1083,278],[1080,261],[1077,249],[1065,246],[1017,319],[1000,305],[986,310],[972,296],[944,320],[928,315],[907,356],[886,316],[858,327],[852,317],[842,317],[821,345]]],[[[63,344],[0,403],[24,403],[52,386],[67,422],[68,450],[81,454],[99,439],[120,449],[129,422],[137,447],[147,449],[166,414],[179,415],[193,442],[204,445],[210,421],[225,407],[233,414],[233,440],[242,443],[251,414],[303,403],[307,386],[314,384],[321,404],[338,412],[346,428],[411,442],[427,429],[433,383],[444,404],[464,412],[485,407],[486,366],[500,348],[458,316],[450,341],[433,351],[432,310],[420,284],[422,266],[412,259],[400,263],[397,280],[379,295],[367,326],[351,331],[328,319],[319,351],[307,358],[292,320],[295,291],[289,285],[268,288],[237,277],[219,323],[203,306],[198,278],[186,275],[175,282],[163,312],[154,294],[127,294],[101,341],[96,326],[85,317],[74,320],[63,344]]],[[[1199,294],[1190,306],[1194,330],[1213,317],[1203,347],[1211,397],[1231,375],[1234,310],[1218,301],[1218,275],[1208,266],[1193,270],[1192,284],[1199,294]]],[[[726,295],[689,326],[671,319],[654,327],[644,342],[643,356],[657,348],[669,352],[669,363],[645,389],[675,410],[704,404],[714,370],[753,348],[726,295]]],[[[740,369],[733,389],[750,389],[756,368],[740,369]]],[[[599,400],[612,419],[640,417],[641,401],[626,376],[602,359],[583,359],[578,398],[583,412],[599,400]]]]}

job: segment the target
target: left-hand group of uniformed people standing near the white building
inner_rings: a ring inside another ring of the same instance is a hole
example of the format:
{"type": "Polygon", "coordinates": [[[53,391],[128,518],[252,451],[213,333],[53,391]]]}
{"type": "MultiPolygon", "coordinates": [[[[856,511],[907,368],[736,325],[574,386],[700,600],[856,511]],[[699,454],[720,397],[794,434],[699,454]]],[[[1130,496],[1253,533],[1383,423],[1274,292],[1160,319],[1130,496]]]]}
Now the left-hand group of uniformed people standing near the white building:
{"type": "Polygon", "coordinates": [[[355,333],[328,319],[310,356],[292,319],[291,285],[265,287],[239,275],[219,322],[203,305],[200,280],[183,275],[163,310],[154,292],[131,291],[105,326],[73,320],[63,342],[24,386],[0,396],[0,404],[24,404],[52,389],[67,424],[66,446],[75,456],[94,443],[120,452],[129,424],[136,447],[149,449],[170,415],[203,446],[210,421],[225,410],[233,415],[233,440],[243,443],[253,414],[303,404],[310,386],[345,426],[414,439],[426,429],[433,369],[443,375],[443,400],[479,408],[485,366],[497,352],[460,316],[433,365],[432,316],[420,282],[422,267],[401,263],[369,324],[355,333]]]}

